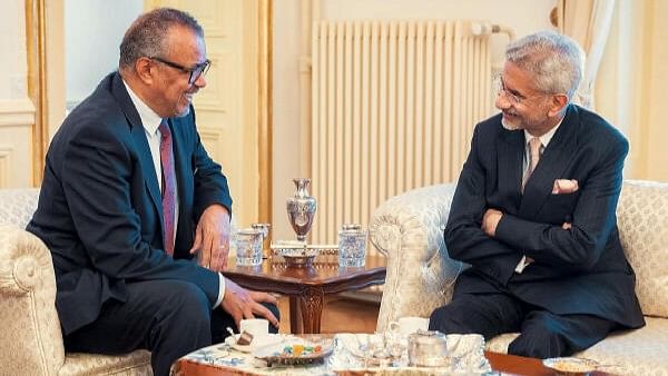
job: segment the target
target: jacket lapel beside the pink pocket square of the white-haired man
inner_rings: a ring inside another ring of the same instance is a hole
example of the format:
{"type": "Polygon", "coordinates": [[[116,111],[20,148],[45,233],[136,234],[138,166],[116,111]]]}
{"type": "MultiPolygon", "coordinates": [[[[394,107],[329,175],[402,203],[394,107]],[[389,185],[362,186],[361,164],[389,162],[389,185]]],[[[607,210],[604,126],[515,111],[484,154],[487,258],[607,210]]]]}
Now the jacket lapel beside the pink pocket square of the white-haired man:
{"type": "Polygon", "coordinates": [[[527,181],[519,211],[521,217],[533,218],[552,195],[554,180],[567,178],[563,176],[563,171],[570,165],[570,160],[576,156],[578,149],[578,111],[571,105],[554,137],[543,150],[531,178],[527,181]]]}

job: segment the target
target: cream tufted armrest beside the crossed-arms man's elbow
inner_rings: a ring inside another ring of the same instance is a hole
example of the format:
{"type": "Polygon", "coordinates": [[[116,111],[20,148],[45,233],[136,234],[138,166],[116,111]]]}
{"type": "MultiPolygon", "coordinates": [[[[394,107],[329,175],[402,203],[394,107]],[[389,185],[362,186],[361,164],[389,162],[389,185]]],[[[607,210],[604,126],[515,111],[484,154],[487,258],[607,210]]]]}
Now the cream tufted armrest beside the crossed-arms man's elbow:
{"type": "Polygon", "coordinates": [[[387,257],[376,329],[402,316],[429,317],[450,300],[464,264],[448,256],[443,229],[455,184],[414,189],[390,198],[369,225],[371,243],[387,257]]]}

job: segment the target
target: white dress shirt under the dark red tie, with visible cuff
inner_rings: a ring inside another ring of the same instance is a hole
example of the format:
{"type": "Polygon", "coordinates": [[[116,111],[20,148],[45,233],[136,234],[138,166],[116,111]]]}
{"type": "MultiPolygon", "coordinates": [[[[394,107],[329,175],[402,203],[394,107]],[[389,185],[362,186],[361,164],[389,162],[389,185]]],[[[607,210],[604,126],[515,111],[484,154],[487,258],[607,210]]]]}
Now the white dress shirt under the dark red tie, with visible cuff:
{"type": "MultiPolygon", "coordinates": [[[[160,164],[160,131],[158,130],[163,118],[159,115],[157,115],[150,107],[148,107],[139,97],[137,97],[137,95],[132,91],[132,89],[130,89],[130,87],[126,83],[125,80],[122,81],[122,83],[125,85],[126,90],[128,90],[130,99],[132,100],[132,105],[135,105],[135,108],[137,109],[137,112],[139,112],[139,119],[141,119],[141,125],[144,126],[144,131],[146,133],[146,140],[148,141],[148,147],[150,149],[150,156],[153,158],[154,167],[156,169],[158,187],[160,188],[160,191],[163,191],[163,165],[160,164]]],[[[174,184],[176,191],[178,191],[178,180],[175,179],[174,184]]],[[[174,205],[174,235],[176,238],[179,206],[178,195],[176,195],[175,197],[174,205]]],[[[225,297],[225,277],[223,277],[222,273],[218,273],[218,279],[220,280],[220,284],[218,285],[218,299],[216,300],[214,308],[217,307],[225,297]]]]}

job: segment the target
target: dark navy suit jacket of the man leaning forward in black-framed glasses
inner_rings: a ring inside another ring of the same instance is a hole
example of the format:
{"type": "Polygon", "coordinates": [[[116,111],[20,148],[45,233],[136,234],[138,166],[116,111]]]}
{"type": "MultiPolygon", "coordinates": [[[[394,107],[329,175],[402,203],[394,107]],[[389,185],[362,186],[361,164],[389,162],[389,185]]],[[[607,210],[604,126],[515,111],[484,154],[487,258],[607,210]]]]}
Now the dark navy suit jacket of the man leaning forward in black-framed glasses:
{"type": "Polygon", "coordinates": [[[65,334],[94,321],[126,284],[179,279],[213,306],[217,273],[190,261],[196,222],[212,204],[232,207],[220,166],[206,154],[193,108],[168,120],[174,139],[179,216],[174,258],[163,250],[163,206],[139,113],[118,72],[67,117],[49,147],[39,205],[28,230],[51,250],[65,334]]]}

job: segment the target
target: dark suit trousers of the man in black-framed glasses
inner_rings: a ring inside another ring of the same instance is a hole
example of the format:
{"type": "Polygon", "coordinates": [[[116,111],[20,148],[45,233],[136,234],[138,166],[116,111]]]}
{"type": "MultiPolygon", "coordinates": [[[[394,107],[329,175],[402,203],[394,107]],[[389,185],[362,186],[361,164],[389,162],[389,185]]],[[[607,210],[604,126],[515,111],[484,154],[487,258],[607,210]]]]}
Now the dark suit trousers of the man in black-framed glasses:
{"type": "MultiPolygon", "coordinates": [[[[148,349],[154,375],[166,376],[179,357],[223,342],[227,327],[238,333],[233,317],[219,307],[212,310],[194,284],[165,279],[126,287],[127,301],[105,303],[94,323],[63,336],[66,350],[116,355],[148,349]]],[[[279,317],[275,305],[265,306],[279,317]]],[[[278,328],[269,325],[269,330],[278,328]]]]}

